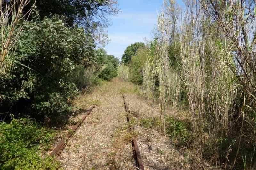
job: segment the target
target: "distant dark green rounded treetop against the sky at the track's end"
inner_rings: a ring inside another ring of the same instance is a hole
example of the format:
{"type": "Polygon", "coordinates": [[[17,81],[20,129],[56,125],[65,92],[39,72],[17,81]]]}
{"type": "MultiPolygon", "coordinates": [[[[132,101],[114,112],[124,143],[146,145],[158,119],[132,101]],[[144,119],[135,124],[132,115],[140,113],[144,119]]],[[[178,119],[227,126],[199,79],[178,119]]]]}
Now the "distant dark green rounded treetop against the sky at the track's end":
{"type": "Polygon", "coordinates": [[[134,44],[131,44],[130,46],[128,46],[125,51],[124,54],[122,56],[122,63],[124,64],[128,64],[131,62],[132,56],[135,56],[137,53],[137,50],[140,47],[145,47],[145,44],[143,42],[136,42],[134,44]]]}

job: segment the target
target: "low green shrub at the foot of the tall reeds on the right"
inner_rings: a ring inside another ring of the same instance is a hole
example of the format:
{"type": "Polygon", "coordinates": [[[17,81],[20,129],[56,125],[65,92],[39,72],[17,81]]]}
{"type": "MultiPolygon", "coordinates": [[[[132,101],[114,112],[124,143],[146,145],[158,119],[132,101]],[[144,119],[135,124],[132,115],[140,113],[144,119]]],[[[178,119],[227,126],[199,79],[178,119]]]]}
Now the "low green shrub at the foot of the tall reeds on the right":
{"type": "Polygon", "coordinates": [[[191,131],[188,124],[173,117],[166,119],[166,134],[177,142],[178,145],[185,145],[191,138],[191,131]]]}

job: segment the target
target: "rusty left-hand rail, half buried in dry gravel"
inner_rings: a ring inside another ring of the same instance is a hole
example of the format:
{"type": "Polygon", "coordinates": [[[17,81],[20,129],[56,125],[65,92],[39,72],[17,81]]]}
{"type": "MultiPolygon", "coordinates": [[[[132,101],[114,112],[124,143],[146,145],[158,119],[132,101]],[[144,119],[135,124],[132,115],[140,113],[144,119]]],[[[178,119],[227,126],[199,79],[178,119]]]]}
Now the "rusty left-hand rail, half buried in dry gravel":
{"type": "Polygon", "coordinates": [[[81,121],[79,121],[72,129],[71,129],[71,133],[68,133],[68,135],[66,136],[65,139],[63,139],[57,146],[56,148],[52,151],[52,153],[50,154],[50,156],[54,156],[54,155],[59,155],[60,151],[62,149],[65,148],[65,142],[68,140],[68,138],[70,138],[72,136],[72,134],[76,131],[76,129],[80,126],[80,124],[84,121],[84,119],[91,113],[92,109],[95,106],[92,106],[90,109],[86,110],[86,112],[88,112],[82,119],[81,121]]]}

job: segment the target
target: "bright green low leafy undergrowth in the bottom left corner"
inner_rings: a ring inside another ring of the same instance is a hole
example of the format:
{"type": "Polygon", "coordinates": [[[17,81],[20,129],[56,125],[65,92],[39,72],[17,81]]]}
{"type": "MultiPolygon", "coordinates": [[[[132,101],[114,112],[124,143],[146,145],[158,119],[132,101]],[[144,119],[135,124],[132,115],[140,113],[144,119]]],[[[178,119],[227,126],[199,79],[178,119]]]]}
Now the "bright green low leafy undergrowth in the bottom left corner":
{"type": "Polygon", "coordinates": [[[40,150],[49,149],[52,141],[52,130],[41,128],[31,119],[1,122],[0,169],[58,169],[58,162],[40,156],[40,150]]]}

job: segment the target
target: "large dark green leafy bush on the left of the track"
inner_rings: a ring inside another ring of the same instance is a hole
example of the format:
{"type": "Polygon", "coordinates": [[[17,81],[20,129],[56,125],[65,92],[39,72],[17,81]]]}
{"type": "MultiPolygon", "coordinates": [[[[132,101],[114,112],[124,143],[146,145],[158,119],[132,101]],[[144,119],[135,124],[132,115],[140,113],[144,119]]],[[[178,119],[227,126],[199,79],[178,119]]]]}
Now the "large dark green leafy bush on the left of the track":
{"type": "Polygon", "coordinates": [[[0,110],[10,112],[12,108],[15,115],[25,110],[40,117],[69,113],[68,100],[77,93],[69,76],[77,64],[87,68],[95,60],[91,35],[78,26],[65,26],[58,16],[24,21],[22,25],[15,54],[5,60],[13,67],[0,76],[0,110]]]}

